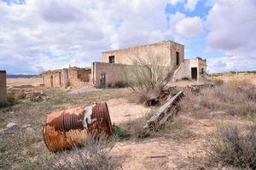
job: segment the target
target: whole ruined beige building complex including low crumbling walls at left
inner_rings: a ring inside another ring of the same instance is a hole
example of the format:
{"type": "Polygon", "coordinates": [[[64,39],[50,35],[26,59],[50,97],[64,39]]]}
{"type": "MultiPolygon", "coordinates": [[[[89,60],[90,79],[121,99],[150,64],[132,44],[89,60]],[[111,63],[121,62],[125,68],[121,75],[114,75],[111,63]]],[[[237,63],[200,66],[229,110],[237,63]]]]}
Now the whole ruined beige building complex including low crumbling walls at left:
{"type": "Polygon", "coordinates": [[[157,65],[171,71],[172,81],[183,78],[200,81],[207,72],[207,60],[197,57],[184,59],[184,45],[163,41],[137,47],[111,50],[102,53],[102,62],[93,62],[91,68],[44,71],[43,83],[49,88],[80,88],[91,83],[96,88],[110,88],[115,82],[125,81],[124,71],[137,59],[157,57],[157,65]]]}

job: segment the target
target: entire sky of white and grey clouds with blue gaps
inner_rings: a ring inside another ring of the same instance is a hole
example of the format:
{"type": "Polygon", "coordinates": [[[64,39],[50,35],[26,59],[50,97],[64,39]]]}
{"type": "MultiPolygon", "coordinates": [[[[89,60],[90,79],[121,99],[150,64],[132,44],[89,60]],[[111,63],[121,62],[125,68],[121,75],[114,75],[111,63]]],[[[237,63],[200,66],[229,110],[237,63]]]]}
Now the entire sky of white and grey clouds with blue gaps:
{"type": "Polygon", "coordinates": [[[173,40],[209,72],[256,70],[255,0],[0,0],[0,70],[90,66],[102,51],[173,40]]]}

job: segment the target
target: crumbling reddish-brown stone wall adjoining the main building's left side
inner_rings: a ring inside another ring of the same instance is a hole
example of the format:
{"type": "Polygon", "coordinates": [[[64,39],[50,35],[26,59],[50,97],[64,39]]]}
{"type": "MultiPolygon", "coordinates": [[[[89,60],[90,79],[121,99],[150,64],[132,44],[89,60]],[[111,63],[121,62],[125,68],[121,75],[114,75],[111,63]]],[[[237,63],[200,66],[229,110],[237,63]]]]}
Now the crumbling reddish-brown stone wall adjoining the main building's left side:
{"type": "Polygon", "coordinates": [[[91,82],[91,70],[89,68],[69,67],[68,79],[71,88],[81,88],[91,82]]]}

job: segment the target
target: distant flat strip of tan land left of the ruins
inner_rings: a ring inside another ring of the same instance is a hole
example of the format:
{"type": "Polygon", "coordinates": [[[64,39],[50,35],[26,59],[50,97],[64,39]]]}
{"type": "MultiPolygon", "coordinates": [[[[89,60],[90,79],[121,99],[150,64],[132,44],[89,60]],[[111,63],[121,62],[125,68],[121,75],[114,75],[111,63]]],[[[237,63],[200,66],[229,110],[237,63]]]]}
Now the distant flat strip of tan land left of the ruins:
{"type": "Polygon", "coordinates": [[[42,83],[41,77],[31,77],[31,78],[7,78],[7,86],[24,86],[32,85],[38,87],[42,83]]]}

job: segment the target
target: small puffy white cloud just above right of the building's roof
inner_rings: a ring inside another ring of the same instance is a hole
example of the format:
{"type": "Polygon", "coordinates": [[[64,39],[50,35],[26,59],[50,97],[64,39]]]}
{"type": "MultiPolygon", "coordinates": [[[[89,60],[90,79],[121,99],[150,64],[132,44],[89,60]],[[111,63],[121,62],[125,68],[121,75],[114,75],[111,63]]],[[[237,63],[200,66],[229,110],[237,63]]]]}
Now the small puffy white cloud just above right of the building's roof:
{"type": "Polygon", "coordinates": [[[203,22],[199,17],[185,17],[175,26],[175,32],[183,37],[195,37],[201,34],[203,22]]]}

